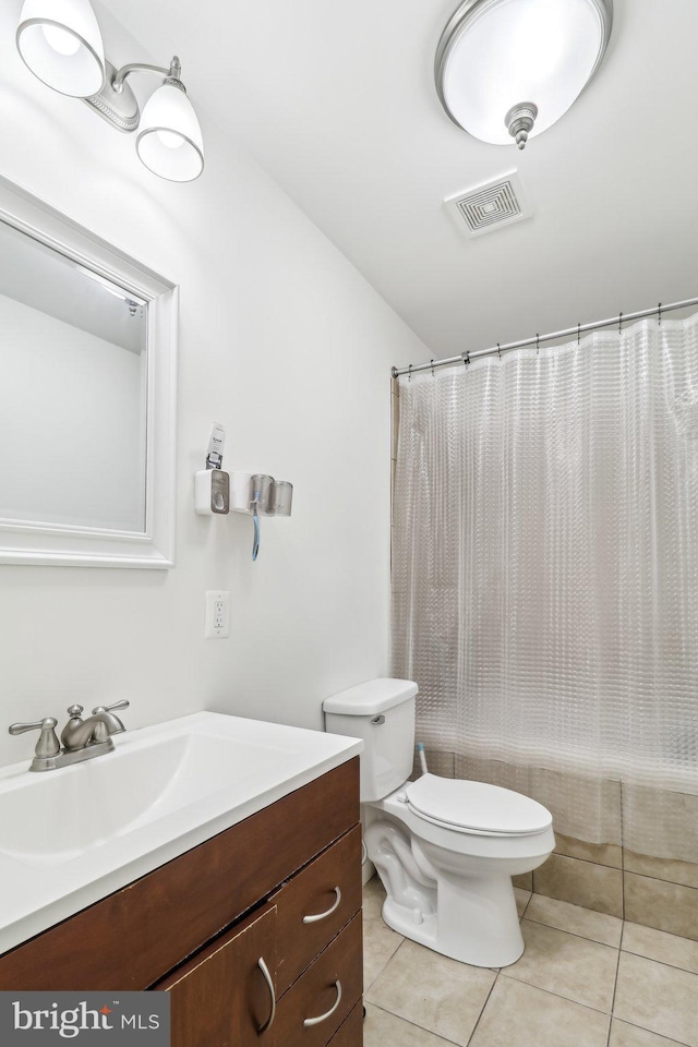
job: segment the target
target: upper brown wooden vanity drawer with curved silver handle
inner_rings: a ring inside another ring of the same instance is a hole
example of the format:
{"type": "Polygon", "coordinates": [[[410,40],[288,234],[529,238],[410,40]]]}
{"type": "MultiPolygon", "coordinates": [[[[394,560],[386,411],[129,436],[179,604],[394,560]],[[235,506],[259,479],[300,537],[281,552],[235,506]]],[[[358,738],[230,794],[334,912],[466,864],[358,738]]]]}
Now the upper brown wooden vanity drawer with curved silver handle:
{"type": "Polygon", "coordinates": [[[272,895],[278,910],[279,996],[361,908],[361,827],[356,826],[272,895]]]}

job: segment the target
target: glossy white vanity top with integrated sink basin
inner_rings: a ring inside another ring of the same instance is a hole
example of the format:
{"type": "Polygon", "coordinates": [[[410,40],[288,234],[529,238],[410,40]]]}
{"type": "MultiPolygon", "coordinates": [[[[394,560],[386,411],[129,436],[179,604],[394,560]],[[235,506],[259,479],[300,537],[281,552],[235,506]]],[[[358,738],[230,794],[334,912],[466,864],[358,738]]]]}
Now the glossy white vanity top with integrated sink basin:
{"type": "Polygon", "coordinates": [[[93,760],[0,768],[0,952],[356,756],[362,743],[201,712],[93,760]]]}

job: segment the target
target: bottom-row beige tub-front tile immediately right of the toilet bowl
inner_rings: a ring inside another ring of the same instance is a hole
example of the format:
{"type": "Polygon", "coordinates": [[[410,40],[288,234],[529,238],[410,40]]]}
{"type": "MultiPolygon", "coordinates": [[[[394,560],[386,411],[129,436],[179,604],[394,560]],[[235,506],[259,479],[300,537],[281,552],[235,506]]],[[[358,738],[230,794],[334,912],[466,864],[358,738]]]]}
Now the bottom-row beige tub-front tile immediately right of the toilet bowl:
{"type": "Polygon", "coordinates": [[[551,854],[533,871],[533,891],[592,908],[609,916],[623,916],[623,872],[621,869],[551,854]]]}

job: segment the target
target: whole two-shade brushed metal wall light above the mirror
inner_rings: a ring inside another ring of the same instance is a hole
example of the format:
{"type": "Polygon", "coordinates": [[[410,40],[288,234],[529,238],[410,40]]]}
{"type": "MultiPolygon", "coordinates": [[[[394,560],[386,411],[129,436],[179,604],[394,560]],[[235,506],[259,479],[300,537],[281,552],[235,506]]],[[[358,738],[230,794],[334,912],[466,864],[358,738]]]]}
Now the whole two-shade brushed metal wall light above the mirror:
{"type": "Polygon", "coordinates": [[[141,161],[160,178],[190,182],[204,169],[204,145],[177,57],[169,68],[133,63],[117,70],[105,58],[89,0],[25,0],[16,35],[25,65],[44,84],[82,98],[119,131],[137,132],[141,161]],[[155,73],[161,85],[143,112],[127,83],[134,72],[155,73]]]}

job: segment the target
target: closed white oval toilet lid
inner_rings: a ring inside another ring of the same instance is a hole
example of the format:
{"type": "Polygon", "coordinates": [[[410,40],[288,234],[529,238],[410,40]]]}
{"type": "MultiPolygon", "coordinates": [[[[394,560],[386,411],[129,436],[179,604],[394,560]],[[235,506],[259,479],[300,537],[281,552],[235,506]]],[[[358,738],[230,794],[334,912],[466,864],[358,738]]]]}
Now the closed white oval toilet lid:
{"type": "Polygon", "coordinates": [[[416,815],[454,829],[518,835],[541,832],[553,821],[550,810],[530,796],[484,782],[423,774],[406,793],[416,815]]]}

